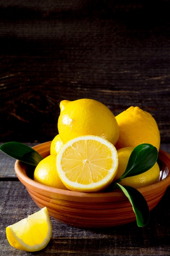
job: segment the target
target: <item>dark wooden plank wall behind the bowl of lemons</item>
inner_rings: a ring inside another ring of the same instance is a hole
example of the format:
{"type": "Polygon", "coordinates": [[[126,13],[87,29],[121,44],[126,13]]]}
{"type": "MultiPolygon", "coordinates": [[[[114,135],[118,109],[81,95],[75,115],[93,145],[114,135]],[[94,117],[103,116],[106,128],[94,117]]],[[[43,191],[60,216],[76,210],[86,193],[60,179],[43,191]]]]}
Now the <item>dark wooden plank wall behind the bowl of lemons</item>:
{"type": "Polygon", "coordinates": [[[139,106],[170,143],[170,0],[0,1],[0,141],[53,139],[79,98],[139,106]]]}

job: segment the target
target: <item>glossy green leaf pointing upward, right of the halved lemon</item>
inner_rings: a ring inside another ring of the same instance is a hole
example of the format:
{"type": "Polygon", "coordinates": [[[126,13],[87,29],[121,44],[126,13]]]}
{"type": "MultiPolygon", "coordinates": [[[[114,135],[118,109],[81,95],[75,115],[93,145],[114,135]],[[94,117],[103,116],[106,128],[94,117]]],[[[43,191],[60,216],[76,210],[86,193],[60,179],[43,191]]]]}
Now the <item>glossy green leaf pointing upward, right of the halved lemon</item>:
{"type": "Polygon", "coordinates": [[[154,166],[157,158],[158,151],[153,145],[144,143],[136,146],[129,157],[125,172],[115,182],[148,171],[154,166]]]}

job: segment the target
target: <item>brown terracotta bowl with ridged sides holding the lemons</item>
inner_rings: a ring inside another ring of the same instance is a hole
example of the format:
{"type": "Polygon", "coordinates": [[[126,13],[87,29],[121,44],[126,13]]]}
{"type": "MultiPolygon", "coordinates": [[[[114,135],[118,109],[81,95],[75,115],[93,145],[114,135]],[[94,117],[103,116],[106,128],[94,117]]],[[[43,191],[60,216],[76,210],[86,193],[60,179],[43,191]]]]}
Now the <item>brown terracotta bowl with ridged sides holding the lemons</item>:
{"type": "MultiPolygon", "coordinates": [[[[50,153],[51,141],[34,146],[43,157],[50,153]]],[[[152,210],[163,197],[170,184],[170,155],[159,150],[161,180],[145,186],[139,191],[144,195],[152,210]]],[[[124,193],[113,192],[83,193],[56,189],[35,182],[28,173],[31,166],[15,162],[18,179],[26,186],[33,201],[40,207],[46,206],[49,215],[60,222],[82,228],[101,228],[123,225],[136,220],[132,206],[124,193]]]]}

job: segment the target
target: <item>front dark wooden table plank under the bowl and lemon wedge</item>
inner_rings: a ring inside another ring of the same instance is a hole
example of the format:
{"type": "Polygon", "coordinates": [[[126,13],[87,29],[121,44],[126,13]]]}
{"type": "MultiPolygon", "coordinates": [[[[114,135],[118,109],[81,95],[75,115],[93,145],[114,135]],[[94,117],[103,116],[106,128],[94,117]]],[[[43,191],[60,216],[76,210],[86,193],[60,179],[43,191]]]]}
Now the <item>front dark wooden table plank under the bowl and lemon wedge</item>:
{"type": "Polygon", "coordinates": [[[80,229],[51,218],[49,245],[36,253],[11,247],[5,227],[38,211],[19,181],[0,182],[0,255],[170,255],[170,189],[150,213],[144,228],[136,222],[107,229],[80,229]]]}

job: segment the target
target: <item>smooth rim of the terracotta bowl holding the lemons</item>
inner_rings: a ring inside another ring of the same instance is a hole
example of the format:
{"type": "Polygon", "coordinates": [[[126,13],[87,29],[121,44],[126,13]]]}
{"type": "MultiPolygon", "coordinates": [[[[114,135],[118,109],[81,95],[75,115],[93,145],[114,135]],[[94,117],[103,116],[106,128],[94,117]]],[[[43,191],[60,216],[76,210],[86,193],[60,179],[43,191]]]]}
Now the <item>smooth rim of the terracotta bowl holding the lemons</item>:
{"type": "MultiPolygon", "coordinates": [[[[33,148],[35,150],[38,150],[38,148],[48,148],[48,146],[50,145],[51,141],[47,141],[41,144],[38,144],[36,146],[33,146],[33,148]]],[[[46,150],[45,150],[46,151],[46,150]]],[[[39,152],[40,153],[40,152],[39,152]]],[[[165,156],[166,158],[169,159],[170,161],[170,155],[168,153],[166,153],[163,150],[159,150],[159,155],[161,156],[165,156]]],[[[34,180],[32,180],[31,178],[29,178],[26,175],[26,172],[24,170],[24,167],[26,166],[26,164],[20,162],[19,160],[15,161],[15,173],[18,177],[18,179],[20,180],[20,182],[22,182],[22,184],[24,184],[26,187],[29,185],[30,187],[32,187],[32,189],[35,189],[36,191],[41,190],[41,191],[48,191],[50,193],[54,194],[60,194],[60,195],[66,195],[66,196],[71,196],[71,200],[73,200],[74,197],[84,197],[84,198],[109,198],[109,197],[121,197],[123,193],[119,190],[115,190],[112,192],[77,192],[77,191],[70,191],[70,190],[64,190],[64,189],[57,189],[57,188],[53,188],[50,186],[46,186],[44,184],[40,184],[38,182],[35,182],[34,180]]],[[[164,189],[165,187],[168,187],[170,185],[170,170],[168,173],[168,176],[164,179],[161,180],[159,182],[156,182],[154,184],[148,185],[148,186],[144,186],[139,190],[139,192],[141,192],[143,195],[145,194],[152,194],[152,190],[157,190],[158,188],[160,189],[161,187],[164,189]]],[[[124,195],[123,195],[124,196],[124,195]]]]}

